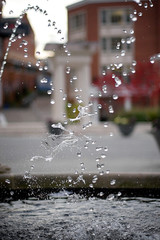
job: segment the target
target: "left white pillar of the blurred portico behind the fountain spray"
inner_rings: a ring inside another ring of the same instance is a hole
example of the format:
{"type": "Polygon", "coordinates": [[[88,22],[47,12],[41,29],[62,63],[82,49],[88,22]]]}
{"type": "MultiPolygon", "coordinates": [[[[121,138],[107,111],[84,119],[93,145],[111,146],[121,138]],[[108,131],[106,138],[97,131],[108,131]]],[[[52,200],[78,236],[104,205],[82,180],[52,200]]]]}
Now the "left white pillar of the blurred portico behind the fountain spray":
{"type": "Polygon", "coordinates": [[[66,94],[65,88],[65,66],[62,63],[55,61],[54,63],[54,76],[53,76],[53,86],[54,91],[52,93],[52,100],[55,101],[51,104],[51,116],[52,121],[55,123],[64,122],[65,104],[66,101],[63,100],[66,94]]]}

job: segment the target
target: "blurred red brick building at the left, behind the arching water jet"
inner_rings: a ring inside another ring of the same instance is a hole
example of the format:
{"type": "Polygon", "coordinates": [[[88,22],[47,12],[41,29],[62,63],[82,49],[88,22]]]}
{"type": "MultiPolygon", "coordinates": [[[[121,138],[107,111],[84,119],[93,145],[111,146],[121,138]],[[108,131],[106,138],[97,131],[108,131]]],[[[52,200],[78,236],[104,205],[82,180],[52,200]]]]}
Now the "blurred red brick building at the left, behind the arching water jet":
{"type": "Polygon", "coordinates": [[[33,100],[42,65],[35,58],[34,32],[27,15],[23,17],[15,37],[12,41],[9,40],[16,22],[17,18],[0,19],[1,65],[9,48],[1,78],[3,107],[27,106],[33,100]]]}

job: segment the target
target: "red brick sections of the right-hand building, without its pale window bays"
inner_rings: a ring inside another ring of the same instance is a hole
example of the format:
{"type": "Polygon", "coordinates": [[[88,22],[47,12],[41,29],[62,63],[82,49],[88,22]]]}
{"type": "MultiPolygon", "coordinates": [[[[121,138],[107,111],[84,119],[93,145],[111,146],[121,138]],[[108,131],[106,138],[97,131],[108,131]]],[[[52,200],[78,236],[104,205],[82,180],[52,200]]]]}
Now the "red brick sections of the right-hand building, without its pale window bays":
{"type": "MultiPolygon", "coordinates": [[[[123,3],[99,3],[88,4],[76,9],[71,9],[68,15],[85,10],[87,13],[87,40],[98,41],[98,9],[100,7],[111,6],[132,6],[137,10],[137,14],[142,12],[142,17],[134,23],[135,29],[135,56],[136,61],[149,61],[149,58],[160,52],[160,1],[152,0],[154,6],[149,6],[149,1],[143,1],[143,6],[138,6],[135,2],[123,3]],[[144,3],[148,3],[148,8],[144,8],[144,3]]],[[[70,32],[68,33],[69,36],[70,32]]],[[[98,76],[98,52],[93,56],[92,76],[98,76]]]]}

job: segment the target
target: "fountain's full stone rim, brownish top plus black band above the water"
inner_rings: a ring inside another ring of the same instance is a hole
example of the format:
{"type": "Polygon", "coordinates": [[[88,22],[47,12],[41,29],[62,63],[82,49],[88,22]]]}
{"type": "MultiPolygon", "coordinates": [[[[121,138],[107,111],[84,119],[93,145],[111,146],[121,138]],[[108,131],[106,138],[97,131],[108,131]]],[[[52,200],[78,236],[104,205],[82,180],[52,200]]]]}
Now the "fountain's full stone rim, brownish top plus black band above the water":
{"type": "Polygon", "coordinates": [[[160,197],[160,174],[96,174],[84,175],[20,175],[0,176],[0,200],[11,197],[28,198],[42,193],[67,189],[76,193],[105,195],[121,191],[123,195],[160,197]],[[97,179],[98,177],[98,179],[97,179]],[[96,193],[96,194],[95,194],[96,193]],[[97,194],[98,193],[98,194],[97,194]],[[16,196],[17,195],[17,196],[16,196]]]}

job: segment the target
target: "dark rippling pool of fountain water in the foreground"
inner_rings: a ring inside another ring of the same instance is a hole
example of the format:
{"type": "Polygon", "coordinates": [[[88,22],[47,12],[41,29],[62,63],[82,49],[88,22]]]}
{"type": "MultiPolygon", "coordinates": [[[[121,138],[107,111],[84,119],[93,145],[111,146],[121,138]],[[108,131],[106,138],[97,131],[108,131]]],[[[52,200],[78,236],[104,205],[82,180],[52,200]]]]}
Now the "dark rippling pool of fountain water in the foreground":
{"type": "Polygon", "coordinates": [[[160,200],[61,192],[48,200],[0,203],[0,239],[159,240],[160,200]]]}

